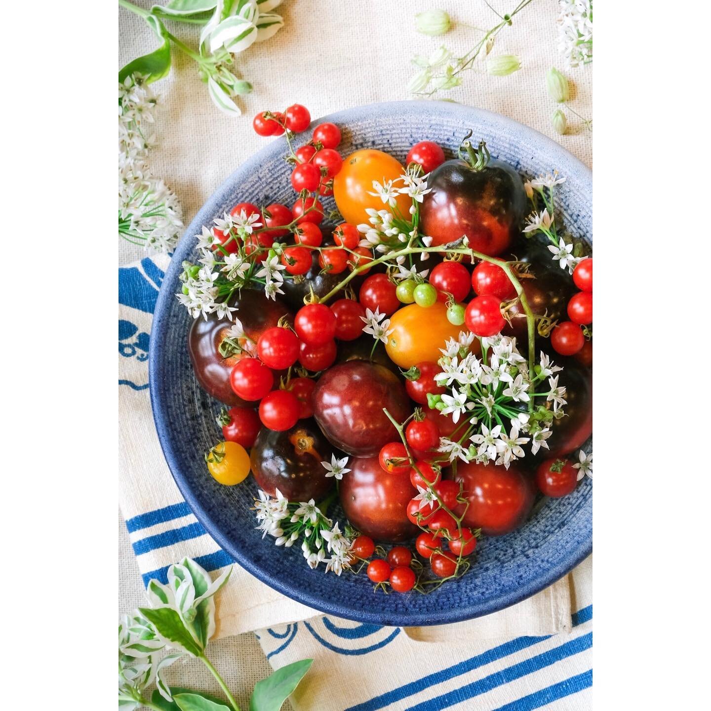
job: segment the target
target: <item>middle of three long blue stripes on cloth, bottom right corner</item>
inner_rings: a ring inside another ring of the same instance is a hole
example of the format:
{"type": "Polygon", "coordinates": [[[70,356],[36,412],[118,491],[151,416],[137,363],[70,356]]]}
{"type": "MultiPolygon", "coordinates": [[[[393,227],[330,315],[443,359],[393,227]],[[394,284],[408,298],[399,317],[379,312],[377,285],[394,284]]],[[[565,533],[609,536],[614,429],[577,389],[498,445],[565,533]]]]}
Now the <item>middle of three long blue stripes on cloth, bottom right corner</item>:
{"type": "Polygon", "coordinates": [[[588,632],[577,639],[561,644],[554,649],[550,649],[535,657],[525,659],[518,664],[514,664],[506,669],[501,669],[493,674],[478,679],[471,684],[463,686],[461,689],[454,689],[449,693],[435,696],[432,699],[423,701],[420,704],[411,706],[407,711],[442,711],[449,706],[459,704],[472,697],[486,694],[504,684],[511,683],[522,676],[533,674],[551,664],[555,664],[561,659],[579,654],[592,647],[592,632],[588,632]]]}

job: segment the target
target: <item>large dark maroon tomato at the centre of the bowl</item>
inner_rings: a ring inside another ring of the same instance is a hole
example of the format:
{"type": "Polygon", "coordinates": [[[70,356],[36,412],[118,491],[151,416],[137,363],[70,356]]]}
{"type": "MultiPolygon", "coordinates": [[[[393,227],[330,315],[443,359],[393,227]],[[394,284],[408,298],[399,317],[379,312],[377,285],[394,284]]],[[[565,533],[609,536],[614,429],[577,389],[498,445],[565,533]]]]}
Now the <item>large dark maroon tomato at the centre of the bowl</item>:
{"type": "Polygon", "coordinates": [[[374,456],[399,439],[395,425],[410,415],[410,398],[395,373],[349,360],[328,368],[314,390],[314,417],[328,441],[355,456],[374,456]]]}

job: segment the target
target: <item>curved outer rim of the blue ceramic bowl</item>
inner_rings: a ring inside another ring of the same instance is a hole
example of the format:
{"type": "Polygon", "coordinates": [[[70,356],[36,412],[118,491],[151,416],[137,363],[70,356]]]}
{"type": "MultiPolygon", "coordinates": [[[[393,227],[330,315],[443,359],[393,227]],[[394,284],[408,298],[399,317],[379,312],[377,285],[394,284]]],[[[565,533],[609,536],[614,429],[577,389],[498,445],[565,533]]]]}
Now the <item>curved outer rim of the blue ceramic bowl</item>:
{"type": "MultiPolygon", "coordinates": [[[[535,142],[542,147],[543,151],[550,152],[550,154],[556,156],[559,161],[560,159],[565,159],[565,162],[568,164],[570,169],[577,172],[578,176],[582,178],[583,181],[589,182],[592,196],[592,171],[588,166],[582,163],[582,161],[573,156],[570,151],[567,151],[556,141],[553,141],[535,129],[525,126],[525,124],[521,124],[520,122],[501,114],[488,111],[487,109],[432,100],[375,102],[327,114],[319,119],[314,119],[311,122],[311,126],[315,126],[325,121],[336,124],[347,124],[349,115],[353,114],[353,112],[375,113],[383,111],[397,111],[402,109],[405,109],[406,111],[415,109],[416,112],[422,114],[431,114],[433,111],[439,114],[460,114],[462,117],[469,119],[472,123],[481,123],[484,121],[499,124],[499,126],[504,129],[508,127],[513,132],[520,132],[523,130],[523,132],[535,139],[535,142]]],[[[194,235],[198,234],[198,232],[201,231],[202,226],[207,224],[207,221],[209,221],[215,213],[215,206],[222,201],[223,197],[226,196],[226,193],[233,190],[241,173],[249,173],[255,169],[258,169],[265,161],[273,159],[278,154],[282,154],[283,151],[284,146],[281,141],[271,141],[267,146],[264,146],[264,148],[260,149],[260,151],[257,151],[257,153],[250,156],[250,158],[244,161],[237,167],[237,169],[235,169],[235,171],[232,171],[232,173],[230,173],[230,175],[225,178],[222,183],[220,183],[220,186],[212,193],[201,209],[198,210],[198,213],[196,213],[190,225],[188,225],[186,230],[184,230],[183,236],[178,242],[175,252],[173,252],[171,262],[168,269],[166,269],[165,276],[161,282],[161,288],[159,290],[153,314],[153,321],[151,324],[151,342],[149,348],[149,392],[151,397],[151,411],[153,413],[156,432],[158,434],[158,439],[161,444],[161,449],[166,459],[166,463],[168,464],[173,480],[176,482],[178,490],[181,492],[183,498],[188,504],[188,507],[191,508],[191,511],[195,517],[201,525],[203,525],[207,533],[215,540],[215,542],[223,548],[223,550],[225,550],[225,552],[227,552],[235,560],[235,562],[240,565],[240,567],[255,576],[261,582],[264,582],[264,584],[269,585],[272,589],[284,594],[286,597],[289,597],[289,599],[295,600],[296,602],[299,602],[316,611],[321,611],[324,614],[332,614],[334,616],[351,619],[361,623],[384,624],[389,626],[450,624],[468,619],[474,619],[476,617],[506,609],[507,607],[517,604],[518,602],[522,602],[541,590],[550,587],[550,585],[565,576],[568,572],[570,572],[570,570],[579,565],[582,560],[592,553],[592,533],[588,538],[580,540],[579,545],[571,550],[570,555],[567,555],[567,557],[565,557],[559,565],[550,567],[544,572],[544,574],[536,577],[535,579],[528,579],[522,584],[513,587],[513,589],[509,590],[508,594],[503,594],[501,597],[498,597],[496,602],[473,602],[467,604],[466,606],[460,606],[456,609],[449,608],[429,612],[417,611],[412,614],[383,613],[379,612],[375,606],[373,609],[351,611],[342,604],[339,604],[337,601],[331,602],[330,600],[316,597],[309,592],[302,592],[297,588],[289,587],[289,584],[273,577],[272,574],[265,572],[261,567],[255,565],[255,563],[252,562],[247,555],[243,554],[238,547],[232,545],[230,540],[223,535],[219,525],[215,523],[212,518],[210,518],[210,515],[208,515],[208,513],[201,506],[198,498],[193,495],[193,491],[191,490],[188,481],[181,474],[181,471],[179,471],[176,454],[173,451],[173,447],[171,447],[170,428],[165,410],[166,403],[164,402],[161,387],[159,387],[160,378],[158,364],[163,358],[164,348],[170,347],[168,339],[165,338],[167,328],[166,314],[169,311],[172,299],[175,298],[174,287],[178,281],[178,274],[181,272],[182,262],[190,254],[190,252],[193,251],[195,246],[191,241],[194,235]],[[385,616],[387,616],[387,621],[384,621],[385,616]]]]}

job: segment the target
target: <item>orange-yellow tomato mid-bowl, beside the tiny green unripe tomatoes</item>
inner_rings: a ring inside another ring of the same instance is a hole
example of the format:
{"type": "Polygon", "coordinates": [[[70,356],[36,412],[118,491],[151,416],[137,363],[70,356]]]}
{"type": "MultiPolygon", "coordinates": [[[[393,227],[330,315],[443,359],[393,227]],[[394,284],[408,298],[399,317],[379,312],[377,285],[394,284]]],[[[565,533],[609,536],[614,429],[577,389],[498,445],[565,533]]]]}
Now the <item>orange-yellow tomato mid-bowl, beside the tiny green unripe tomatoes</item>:
{"type": "Polygon", "coordinates": [[[461,326],[450,324],[447,304],[437,301],[432,306],[410,304],[390,316],[392,333],[387,337],[385,351],[395,365],[412,368],[423,360],[437,363],[439,352],[449,338],[459,338],[461,326]]]}

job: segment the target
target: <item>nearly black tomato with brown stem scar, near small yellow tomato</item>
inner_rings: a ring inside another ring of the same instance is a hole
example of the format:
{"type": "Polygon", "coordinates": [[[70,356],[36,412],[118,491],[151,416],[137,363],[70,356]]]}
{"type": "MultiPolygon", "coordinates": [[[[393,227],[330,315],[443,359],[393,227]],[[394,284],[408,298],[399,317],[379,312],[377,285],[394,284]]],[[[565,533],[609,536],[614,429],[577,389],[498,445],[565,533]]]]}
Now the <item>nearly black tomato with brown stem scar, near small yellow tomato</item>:
{"type": "Polygon", "coordinates": [[[257,484],[269,496],[277,489],[289,501],[319,501],[333,486],[322,461],[331,461],[333,447],[313,419],[301,419],[285,432],[262,427],[250,461],[257,484]]]}

